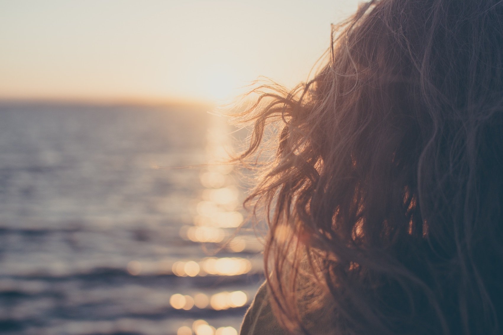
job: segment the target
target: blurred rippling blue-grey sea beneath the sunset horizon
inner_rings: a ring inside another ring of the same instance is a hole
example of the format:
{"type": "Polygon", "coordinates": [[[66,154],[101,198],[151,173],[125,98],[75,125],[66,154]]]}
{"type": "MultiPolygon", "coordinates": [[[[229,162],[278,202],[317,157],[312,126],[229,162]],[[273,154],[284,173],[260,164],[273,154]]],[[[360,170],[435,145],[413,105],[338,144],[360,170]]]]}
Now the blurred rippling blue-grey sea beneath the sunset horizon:
{"type": "Polygon", "coordinates": [[[0,332],[233,335],[260,282],[204,106],[0,104],[0,332]]]}

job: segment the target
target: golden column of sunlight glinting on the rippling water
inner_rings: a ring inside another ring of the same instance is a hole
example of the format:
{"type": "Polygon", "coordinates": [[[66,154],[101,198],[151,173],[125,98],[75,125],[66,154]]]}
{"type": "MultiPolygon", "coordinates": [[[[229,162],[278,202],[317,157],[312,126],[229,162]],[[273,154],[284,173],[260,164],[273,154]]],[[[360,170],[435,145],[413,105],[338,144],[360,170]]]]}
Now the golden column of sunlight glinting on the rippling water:
{"type": "MultiPolygon", "coordinates": [[[[214,118],[208,129],[205,148],[210,165],[199,174],[204,189],[195,205],[193,225],[183,226],[179,235],[185,241],[214,245],[223,248],[226,253],[242,256],[261,251],[261,244],[255,236],[237,235],[235,229],[242,224],[243,215],[239,211],[242,197],[232,176],[233,168],[222,165],[227,159],[231,147],[229,128],[225,119],[214,118]]],[[[179,260],[172,266],[172,272],[178,277],[225,277],[240,276],[262,272],[260,259],[246,257],[205,257],[200,260],[179,260]]],[[[216,311],[242,308],[250,303],[255,292],[244,290],[222,290],[213,293],[195,292],[193,294],[176,293],[170,298],[170,304],[177,310],[212,309],[216,311]]],[[[237,335],[235,327],[226,325],[215,327],[207,320],[199,319],[185,322],[178,328],[178,335],[237,335]]]]}

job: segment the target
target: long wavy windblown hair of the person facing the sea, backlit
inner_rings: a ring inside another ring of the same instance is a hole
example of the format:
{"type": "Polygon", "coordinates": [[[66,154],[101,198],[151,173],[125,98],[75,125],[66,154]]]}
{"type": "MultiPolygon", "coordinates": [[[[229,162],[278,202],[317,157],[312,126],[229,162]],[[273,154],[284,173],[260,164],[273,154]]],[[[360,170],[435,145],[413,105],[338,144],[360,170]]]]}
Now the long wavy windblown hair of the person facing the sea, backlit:
{"type": "Polygon", "coordinates": [[[503,2],[370,1],[332,36],[312,80],[264,84],[240,114],[240,159],[275,149],[245,205],[269,225],[278,319],[501,333],[503,2]]]}

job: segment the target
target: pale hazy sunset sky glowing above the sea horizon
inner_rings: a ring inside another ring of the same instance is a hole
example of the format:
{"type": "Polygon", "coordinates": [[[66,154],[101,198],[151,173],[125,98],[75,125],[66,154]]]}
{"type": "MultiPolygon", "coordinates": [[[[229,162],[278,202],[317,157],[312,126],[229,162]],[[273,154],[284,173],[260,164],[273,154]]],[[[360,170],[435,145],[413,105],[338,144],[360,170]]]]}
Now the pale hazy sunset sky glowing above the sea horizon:
{"type": "Polygon", "coordinates": [[[0,0],[0,99],[216,101],[306,80],[357,0],[0,0]]]}

